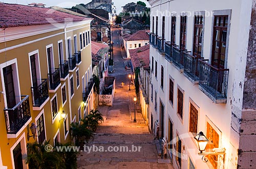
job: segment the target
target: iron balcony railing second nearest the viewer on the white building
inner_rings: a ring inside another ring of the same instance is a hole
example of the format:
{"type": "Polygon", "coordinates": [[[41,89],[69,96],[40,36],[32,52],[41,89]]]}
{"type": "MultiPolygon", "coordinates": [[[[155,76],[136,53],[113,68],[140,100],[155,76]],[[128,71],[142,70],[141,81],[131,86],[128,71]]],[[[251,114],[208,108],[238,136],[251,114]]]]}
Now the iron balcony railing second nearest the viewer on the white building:
{"type": "Polygon", "coordinates": [[[183,68],[184,73],[188,75],[194,81],[199,80],[198,73],[198,59],[203,59],[190,55],[188,52],[183,52],[183,68]]]}

